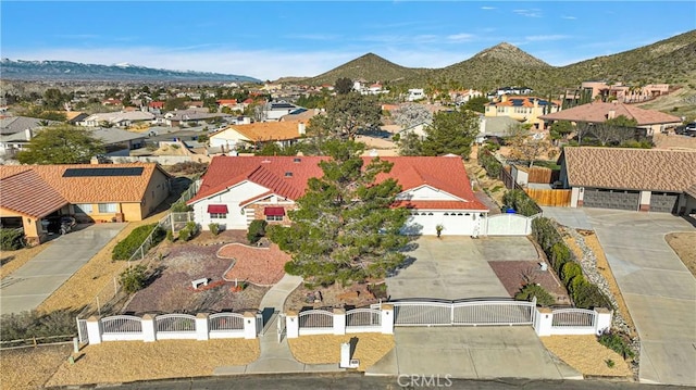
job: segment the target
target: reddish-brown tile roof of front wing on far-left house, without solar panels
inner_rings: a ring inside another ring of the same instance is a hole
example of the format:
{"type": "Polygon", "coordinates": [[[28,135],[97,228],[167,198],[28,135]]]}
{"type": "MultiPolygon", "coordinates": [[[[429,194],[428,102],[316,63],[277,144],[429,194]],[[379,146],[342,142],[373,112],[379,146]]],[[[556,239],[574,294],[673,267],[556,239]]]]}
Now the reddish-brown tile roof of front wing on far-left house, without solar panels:
{"type": "Polygon", "coordinates": [[[45,217],[67,204],[67,201],[34,171],[2,177],[0,189],[1,207],[34,218],[45,217]]]}

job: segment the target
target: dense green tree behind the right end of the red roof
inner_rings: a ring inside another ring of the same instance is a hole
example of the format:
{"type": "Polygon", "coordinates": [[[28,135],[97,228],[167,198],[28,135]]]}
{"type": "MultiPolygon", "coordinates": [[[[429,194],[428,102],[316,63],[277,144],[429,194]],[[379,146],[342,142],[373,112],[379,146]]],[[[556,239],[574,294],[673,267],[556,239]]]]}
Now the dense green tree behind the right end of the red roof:
{"type": "Polygon", "coordinates": [[[425,133],[423,155],[452,153],[469,159],[471,146],[478,134],[478,114],[463,109],[440,111],[433,116],[433,124],[425,133]]]}

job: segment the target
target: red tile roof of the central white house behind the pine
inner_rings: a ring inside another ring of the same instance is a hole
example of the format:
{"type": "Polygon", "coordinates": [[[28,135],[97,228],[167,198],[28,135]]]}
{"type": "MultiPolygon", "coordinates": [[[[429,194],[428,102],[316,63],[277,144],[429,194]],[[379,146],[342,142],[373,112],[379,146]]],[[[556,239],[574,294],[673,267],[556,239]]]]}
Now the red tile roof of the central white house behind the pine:
{"type": "MultiPolygon", "coordinates": [[[[323,160],[327,158],[215,156],[202,177],[200,190],[188,203],[195,203],[246,180],[269,188],[281,197],[297,200],[304,193],[307,181],[311,177],[323,175],[319,166],[323,160]]],[[[371,160],[372,158],[363,158],[365,164],[371,160]]],[[[415,207],[487,210],[474,196],[459,158],[385,156],[381,160],[391,162],[394,166],[388,174],[378,175],[377,181],[393,177],[398,179],[402,191],[432,186],[462,200],[410,202],[415,207]]]]}

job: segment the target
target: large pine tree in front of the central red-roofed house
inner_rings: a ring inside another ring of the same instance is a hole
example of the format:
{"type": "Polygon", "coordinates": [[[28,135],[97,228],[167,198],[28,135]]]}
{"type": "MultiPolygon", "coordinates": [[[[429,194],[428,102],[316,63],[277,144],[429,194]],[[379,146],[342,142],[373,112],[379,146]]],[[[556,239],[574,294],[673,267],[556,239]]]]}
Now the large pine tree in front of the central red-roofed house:
{"type": "Polygon", "coordinates": [[[378,158],[363,165],[364,144],[331,140],[331,160],[320,163],[323,177],[311,178],[290,227],[273,225],[269,237],[293,256],[286,272],[308,282],[350,285],[381,278],[400,266],[409,237],[400,234],[409,211],[391,207],[401,191],[393,179],[376,181],[391,163],[378,158]]]}

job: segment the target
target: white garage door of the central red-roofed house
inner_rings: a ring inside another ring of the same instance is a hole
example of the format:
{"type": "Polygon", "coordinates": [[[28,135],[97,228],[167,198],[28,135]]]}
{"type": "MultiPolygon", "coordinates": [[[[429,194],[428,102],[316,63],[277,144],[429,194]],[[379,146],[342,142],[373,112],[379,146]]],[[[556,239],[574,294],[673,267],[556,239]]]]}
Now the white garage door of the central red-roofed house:
{"type": "Polygon", "coordinates": [[[437,235],[435,227],[442,224],[445,227],[443,236],[471,236],[476,223],[475,217],[474,213],[464,211],[412,212],[403,232],[407,235],[435,236],[437,235]]]}

